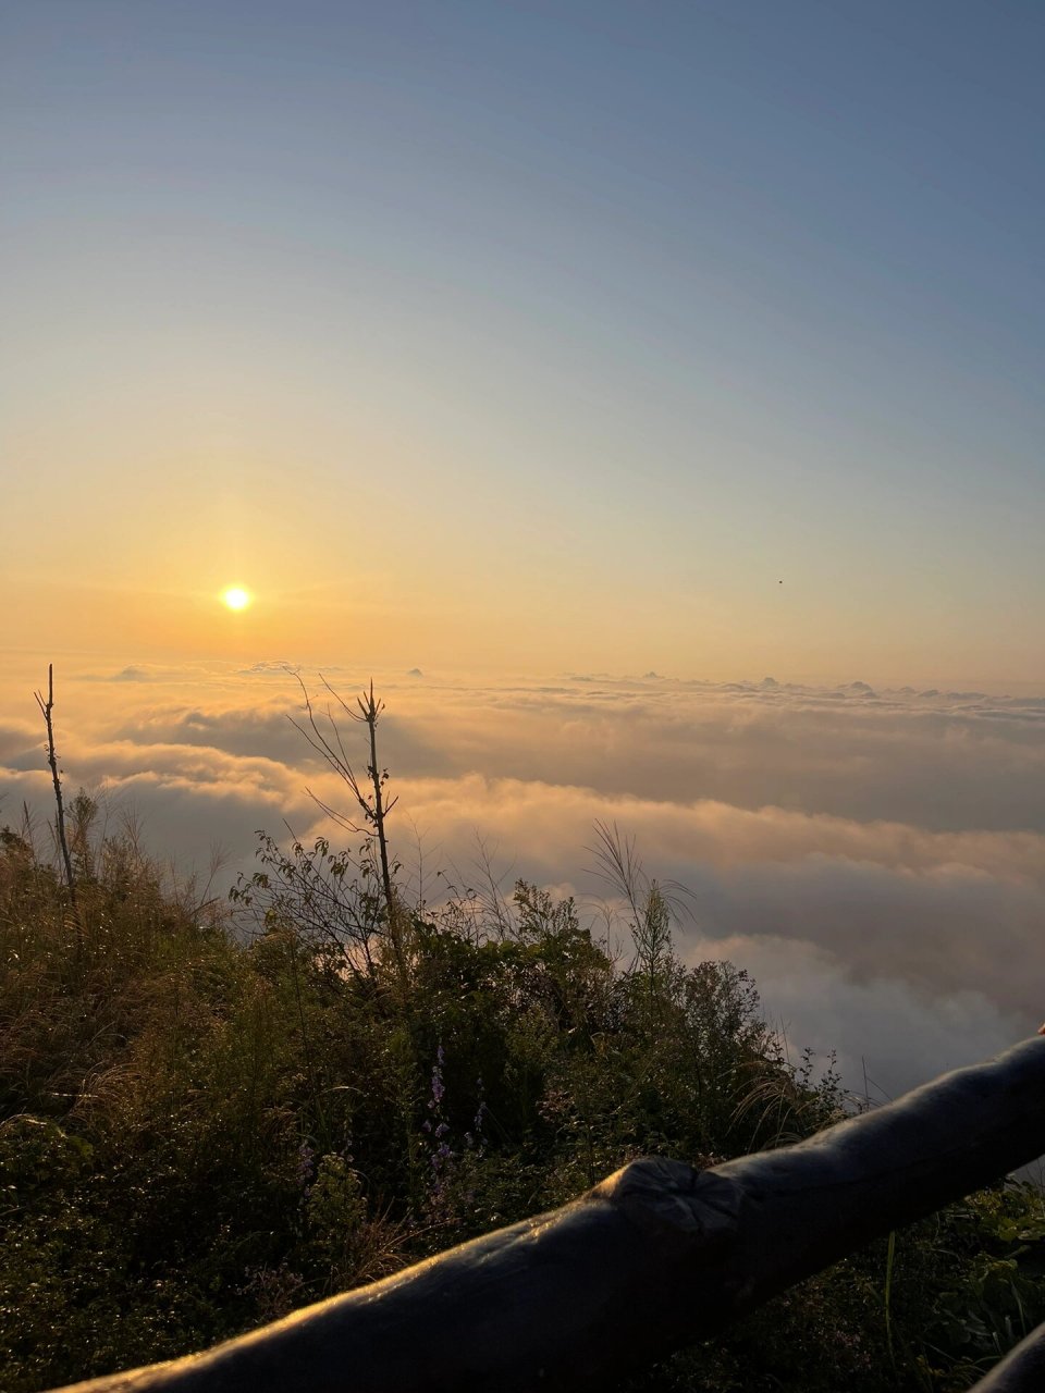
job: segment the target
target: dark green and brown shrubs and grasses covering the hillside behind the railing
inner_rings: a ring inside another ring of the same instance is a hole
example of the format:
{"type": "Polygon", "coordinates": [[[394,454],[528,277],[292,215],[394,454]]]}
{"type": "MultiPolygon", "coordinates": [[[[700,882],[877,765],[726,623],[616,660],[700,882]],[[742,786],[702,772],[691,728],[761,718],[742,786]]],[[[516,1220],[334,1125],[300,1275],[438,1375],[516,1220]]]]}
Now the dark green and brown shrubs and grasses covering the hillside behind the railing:
{"type": "MultiPolygon", "coordinates": [[[[844,1110],[745,972],[681,965],[677,901],[616,829],[598,854],[623,950],[524,882],[411,904],[378,713],[366,777],[339,770],[348,850],[262,837],[231,904],[166,886],[84,795],[75,900],[46,839],[0,834],[7,1393],[210,1344],[637,1155],[708,1165],[844,1110]]],[[[1041,1194],[1002,1183],[631,1387],[957,1393],[1045,1318],[1042,1252],[1041,1194]]]]}

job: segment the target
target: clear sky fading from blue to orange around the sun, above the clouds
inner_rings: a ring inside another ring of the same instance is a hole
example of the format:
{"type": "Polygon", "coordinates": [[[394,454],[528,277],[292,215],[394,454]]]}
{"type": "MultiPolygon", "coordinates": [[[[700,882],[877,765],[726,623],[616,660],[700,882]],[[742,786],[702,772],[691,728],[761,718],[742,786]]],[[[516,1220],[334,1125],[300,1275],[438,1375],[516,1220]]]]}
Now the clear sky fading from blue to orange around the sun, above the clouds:
{"type": "Polygon", "coordinates": [[[0,14],[11,648],[1045,681],[1037,3],[0,14]]]}

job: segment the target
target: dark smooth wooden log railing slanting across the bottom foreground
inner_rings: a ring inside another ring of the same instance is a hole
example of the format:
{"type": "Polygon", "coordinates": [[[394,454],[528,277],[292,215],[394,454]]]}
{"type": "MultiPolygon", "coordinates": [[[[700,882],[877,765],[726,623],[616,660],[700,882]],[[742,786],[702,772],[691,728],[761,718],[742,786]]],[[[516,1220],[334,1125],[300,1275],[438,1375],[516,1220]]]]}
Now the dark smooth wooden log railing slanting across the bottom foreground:
{"type": "MultiPolygon", "coordinates": [[[[203,1354],[75,1393],[612,1386],[853,1248],[1045,1152],[1045,1039],[780,1151],[635,1160],[550,1213],[203,1354]]],[[[1032,1336],[981,1393],[1045,1389],[1032,1336]]],[[[65,1393],[71,1393],[65,1390],[65,1393]]]]}

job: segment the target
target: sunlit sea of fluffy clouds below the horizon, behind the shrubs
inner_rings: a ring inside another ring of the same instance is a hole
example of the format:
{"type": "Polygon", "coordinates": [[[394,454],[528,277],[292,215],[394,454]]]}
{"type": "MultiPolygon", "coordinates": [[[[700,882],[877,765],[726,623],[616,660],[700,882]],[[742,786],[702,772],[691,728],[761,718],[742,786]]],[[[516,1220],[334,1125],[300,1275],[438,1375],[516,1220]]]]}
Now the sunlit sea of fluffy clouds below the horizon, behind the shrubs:
{"type": "MultiPolygon", "coordinates": [[[[326,670],[351,706],[369,673],[326,670]]],[[[601,919],[596,820],[690,890],[687,961],[751,971],[794,1056],[836,1052],[849,1087],[896,1096],[986,1057],[1045,1015],[1045,698],[673,681],[481,683],[376,674],[390,830],[414,893],[478,876],[573,893],[601,919]]],[[[329,830],[343,791],[288,716],[315,671],[138,664],[57,677],[65,781],[184,875],[255,832],[329,830]]],[[[39,685],[39,677],[36,680],[39,685]]],[[[0,822],[50,811],[28,667],[0,717],[0,822]]],[[[336,708],[337,709],[337,708],[336,708]]],[[[365,754],[340,712],[346,741],[365,754]]]]}

